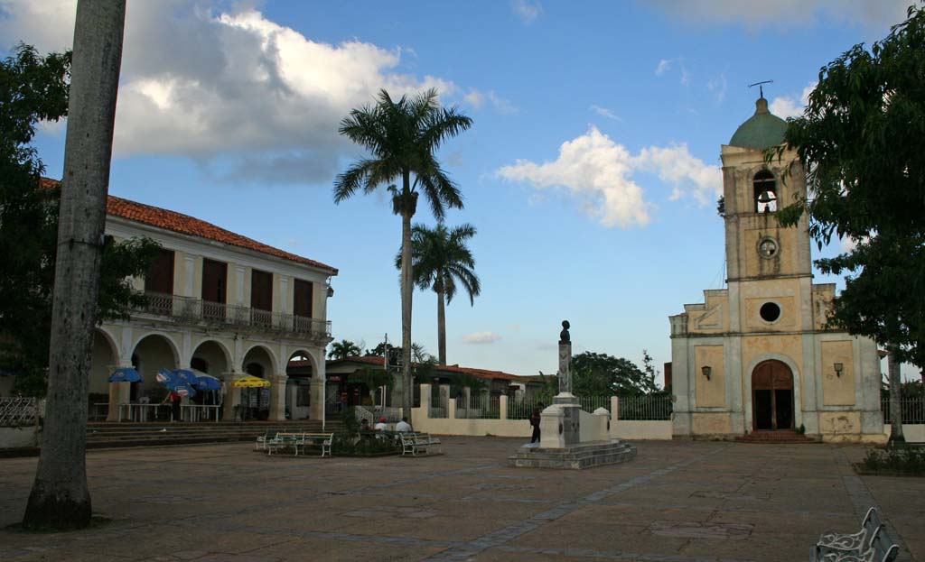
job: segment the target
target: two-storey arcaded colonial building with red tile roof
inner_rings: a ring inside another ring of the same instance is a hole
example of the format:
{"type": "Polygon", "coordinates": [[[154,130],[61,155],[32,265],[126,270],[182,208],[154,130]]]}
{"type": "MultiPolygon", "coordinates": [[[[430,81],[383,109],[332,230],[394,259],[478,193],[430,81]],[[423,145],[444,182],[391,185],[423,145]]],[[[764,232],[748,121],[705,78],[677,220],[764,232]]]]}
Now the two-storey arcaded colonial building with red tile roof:
{"type": "Polygon", "coordinates": [[[117,241],[152,238],[162,246],[148,275],[133,280],[148,305],[96,330],[91,403],[108,402],[109,420],[125,417],[125,405],[138,412],[158,402],[166,393],[155,380],[160,369],[195,369],[221,380],[220,396],[205,401],[221,405],[213,406],[215,417],[233,419],[247,406],[267,409],[271,420],[284,419],[287,410],[292,417],[321,419],[331,340],[327,298],[337,269],[112,196],[105,234],[117,241]],[[290,360],[303,361],[299,384],[287,376],[290,360]],[[134,367],[143,382],[109,383],[120,367],[134,367]],[[269,388],[241,392],[233,383],[246,374],[269,381],[269,388]],[[242,396],[248,401],[243,406],[242,396]]]}

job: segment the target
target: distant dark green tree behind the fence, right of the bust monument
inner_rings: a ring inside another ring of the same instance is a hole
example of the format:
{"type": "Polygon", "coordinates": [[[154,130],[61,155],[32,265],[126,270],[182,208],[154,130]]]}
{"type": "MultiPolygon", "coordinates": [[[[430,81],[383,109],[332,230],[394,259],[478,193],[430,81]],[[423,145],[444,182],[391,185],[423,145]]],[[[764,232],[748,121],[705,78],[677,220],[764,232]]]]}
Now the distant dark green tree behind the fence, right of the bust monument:
{"type": "Polygon", "coordinates": [[[586,351],[572,357],[572,387],[578,396],[640,396],[659,390],[654,375],[631,360],[586,351]]]}

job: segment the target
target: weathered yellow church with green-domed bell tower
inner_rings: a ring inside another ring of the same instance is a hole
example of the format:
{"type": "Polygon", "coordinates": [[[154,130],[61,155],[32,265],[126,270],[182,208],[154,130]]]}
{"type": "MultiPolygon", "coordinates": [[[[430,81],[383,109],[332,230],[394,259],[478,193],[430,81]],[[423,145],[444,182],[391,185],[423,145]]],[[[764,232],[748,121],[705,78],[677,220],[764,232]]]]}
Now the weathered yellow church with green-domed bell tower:
{"type": "Polygon", "coordinates": [[[670,317],[672,434],[882,441],[877,346],[826,327],[835,286],[812,282],[808,217],[776,216],[806,196],[806,170],[789,149],[764,161],[786,122],[756,105],[721,150],[726,288],[670,317]]]}

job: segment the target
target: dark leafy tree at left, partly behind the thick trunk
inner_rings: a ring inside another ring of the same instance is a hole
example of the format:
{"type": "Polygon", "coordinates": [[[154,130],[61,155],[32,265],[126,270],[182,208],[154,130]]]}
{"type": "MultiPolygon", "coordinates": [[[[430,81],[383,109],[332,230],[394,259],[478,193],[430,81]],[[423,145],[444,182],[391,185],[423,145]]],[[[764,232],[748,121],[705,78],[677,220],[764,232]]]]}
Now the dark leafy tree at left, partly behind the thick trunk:
{"type": "MultiPolygon", "coordinates": [[[[55,280],[57,182],[31,141],[40,121],[68,113],[70,53],[41,56],[20,44],[0,61],[0,370],[16,373],[16,388],[44,394],[55,280]]],[[[148,238],[107,240],[97,317],[124,318],[144,298],[129,277],[144,275],[159,246],[148,238]]]]}

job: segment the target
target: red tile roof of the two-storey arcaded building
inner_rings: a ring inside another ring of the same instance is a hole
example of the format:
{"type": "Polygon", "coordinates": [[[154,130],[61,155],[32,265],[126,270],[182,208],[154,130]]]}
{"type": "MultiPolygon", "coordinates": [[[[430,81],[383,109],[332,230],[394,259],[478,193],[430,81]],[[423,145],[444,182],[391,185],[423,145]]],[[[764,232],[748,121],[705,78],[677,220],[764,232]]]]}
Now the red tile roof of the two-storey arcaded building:
{"type": "MultiPolygon", "coordinates": [[[[43,188],[54,188],[59,184],[60,182],[56,179],[42,178],[43,188]]],[[[129,201],[128,199],[122,199],[113,195],[110,195],[106,201],[106,214],[119,216],[145,225],[157,226],[158,228],[179,232],[180,234],[215,240],[216,242],[228,244],[229,246],[259,251],[271,256],[276,256],[277,258],[289,260],[290,262],[312,265],[327,270],[335,275],[338,273],[337,268],[326,265],[325,263],[315,262],[314,260],[297,256],[294,253],[267,246],[252,238],[235,234],[230,230],[207,223],[188,214],[168,211],[166,209],[129,201]]]]}

